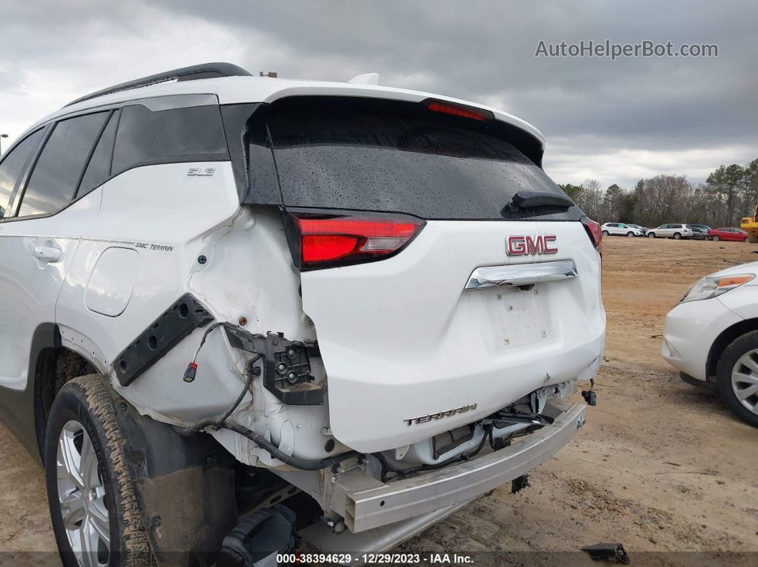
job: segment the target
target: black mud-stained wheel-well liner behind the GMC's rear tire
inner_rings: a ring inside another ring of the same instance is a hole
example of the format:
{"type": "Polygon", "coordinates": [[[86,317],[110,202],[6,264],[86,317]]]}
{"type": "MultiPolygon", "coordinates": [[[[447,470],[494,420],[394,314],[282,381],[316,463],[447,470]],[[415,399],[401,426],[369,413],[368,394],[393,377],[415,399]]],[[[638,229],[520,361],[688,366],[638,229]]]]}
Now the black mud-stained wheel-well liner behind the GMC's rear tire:
{"type": "Polygon", "coordinates": [[[237,521],[236,460],[211,435],[181,435],[111,395],[126,441],[125,463],[157,564],[212,565],[237,521]]]}

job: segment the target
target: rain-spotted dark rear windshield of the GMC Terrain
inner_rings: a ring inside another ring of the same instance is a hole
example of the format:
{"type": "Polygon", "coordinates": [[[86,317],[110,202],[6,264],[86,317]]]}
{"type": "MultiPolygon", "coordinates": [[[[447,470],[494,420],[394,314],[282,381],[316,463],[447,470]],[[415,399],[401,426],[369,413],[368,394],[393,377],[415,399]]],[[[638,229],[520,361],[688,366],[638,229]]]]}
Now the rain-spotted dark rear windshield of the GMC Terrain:
{"type": "MultiPolygon", "coordinates": [[[[421,104],[330,99],[272,106],[285,205],[396,211],[424,219],[503,220],[519,190],[562,195],[495,125],[421,104]]],[[[577,207],[519,213],[578,219],[577,207]]]]}

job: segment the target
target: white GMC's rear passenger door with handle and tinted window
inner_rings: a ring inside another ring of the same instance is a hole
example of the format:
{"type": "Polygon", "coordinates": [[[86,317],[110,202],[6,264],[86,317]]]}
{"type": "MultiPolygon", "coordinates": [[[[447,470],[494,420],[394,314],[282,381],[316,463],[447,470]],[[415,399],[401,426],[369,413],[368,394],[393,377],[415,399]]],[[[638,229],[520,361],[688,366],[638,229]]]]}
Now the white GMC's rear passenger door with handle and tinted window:
{"type": "Polygon", "coordinates": [[[55,322],[55,301],[79,237],[99,210],[99,201],[72,201],[109,114],[61,120],[47,129],[30,173],[17,187],[11,205],[16,212],[2,223],[0,385],[5,387],[26,387],[34,332],[55,322]]]}

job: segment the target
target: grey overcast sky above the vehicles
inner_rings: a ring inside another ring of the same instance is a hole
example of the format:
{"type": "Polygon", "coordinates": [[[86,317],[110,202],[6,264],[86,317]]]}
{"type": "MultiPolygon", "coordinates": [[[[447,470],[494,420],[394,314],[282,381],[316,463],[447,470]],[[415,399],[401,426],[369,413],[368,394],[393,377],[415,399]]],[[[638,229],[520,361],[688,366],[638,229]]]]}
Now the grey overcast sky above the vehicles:
{"type": "Polygon", "coordinates": [[[0,0],[3,146],[73,98],[206,61],[499,107],[557,182],[705,179],[758,157],[756,2],[0,0]],[[543,58],[540,40],[716,44],[717,58],[543,58]]]}

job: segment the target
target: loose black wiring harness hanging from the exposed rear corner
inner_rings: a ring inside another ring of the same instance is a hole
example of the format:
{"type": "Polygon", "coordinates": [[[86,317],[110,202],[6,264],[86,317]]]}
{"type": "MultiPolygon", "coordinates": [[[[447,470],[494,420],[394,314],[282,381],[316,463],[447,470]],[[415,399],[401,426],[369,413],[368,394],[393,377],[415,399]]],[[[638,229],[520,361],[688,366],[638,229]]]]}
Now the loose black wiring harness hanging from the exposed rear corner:
{"type": "MultiPolygon", "coordinates": [[[[197,371],[197,356],[200,353],[200,349],[202,348],[202,345],[205,344],[205,339],[208,338],[208,335],[213,329],[218,329],[218,327],[227,327],[230,329],[240,329],[240,327],[233,325],[229,322],[215,322],[213,325],[209,326],[208,329],[205,330],[205,333],[202,335],[202,339],[200,340],[200,344],[197,347],[197,350],[195,350],[195,356],[193,357],[192,362],[189,363],[187,366],[186,372],[184,373],[184,381],[185,382],[193,382],[193,380],[196,377],[196,371],[197,371]],[[190,379],[188,378],[188,375],[191,376],[190,379]]],[[[242,435],[245,438],[248,438],[253,443],[257,444],[258,447],[261,447],[263,450],[265,450],[268,454],[270,454],[274,459],[280,460],[282,463],[286,463],[287,465],[293,466],[296,469],[301,469],[304,471],[318,471],[321,469],[326,469],[329,466],[335,465],[337,463],[342,462],[343,460],[350,459],[354,456],[358,456],[359,453],[356,451],[349,451],[348,453],[342,453],[341,455],[335,455],[335,456],[329,456],[326,459],[322,459],[320,461],[306,461],[302,459],[298,459],[296,456],[288,455],[287,453],[284,453],[282,450],[279,449],[276,445],[271,443],[271,441],[268,441],[263,435],[259,435],[258,433],[255,433],[255,431],[252,431],[248,428],[246,428],[244,425],[240,425],[237,422],[228,421],[229,416],[232,415],[234,410],[237,409],[237,407],[240,406],[240,403],[242,403],[242,400],[245,399],[245,394],[247,394],[250,391],[250,385],[252,385],[252,379],[255,377],[255,373],[253,372],[253,368],[255,366],[255,363],[258,362],[258,360],[261,360],[262,354],[255,353],[255,357],[252,357],[250,362],[247,366],[247,379],[245,381],[245,387],[240,392],[240,395],[237,396],[234,403],[231,405],[231,407],[226,410],[224,413],[221,414],[221,416],[217,417],[210,417],[208,419],[202,419],[199,422],[193,423],[193,425],[189,425],[189,427],[186,428],[186,434],[188,435],[196,435],[200,431],[203,431],[205,428],[211,428],[211,429],[228,429],[229,431],[234,431],[235,433],[238,433],[239,435],[242,435]]],[[[252,391],[250,391],[250,394],[252,395],[252,391]]]]}

